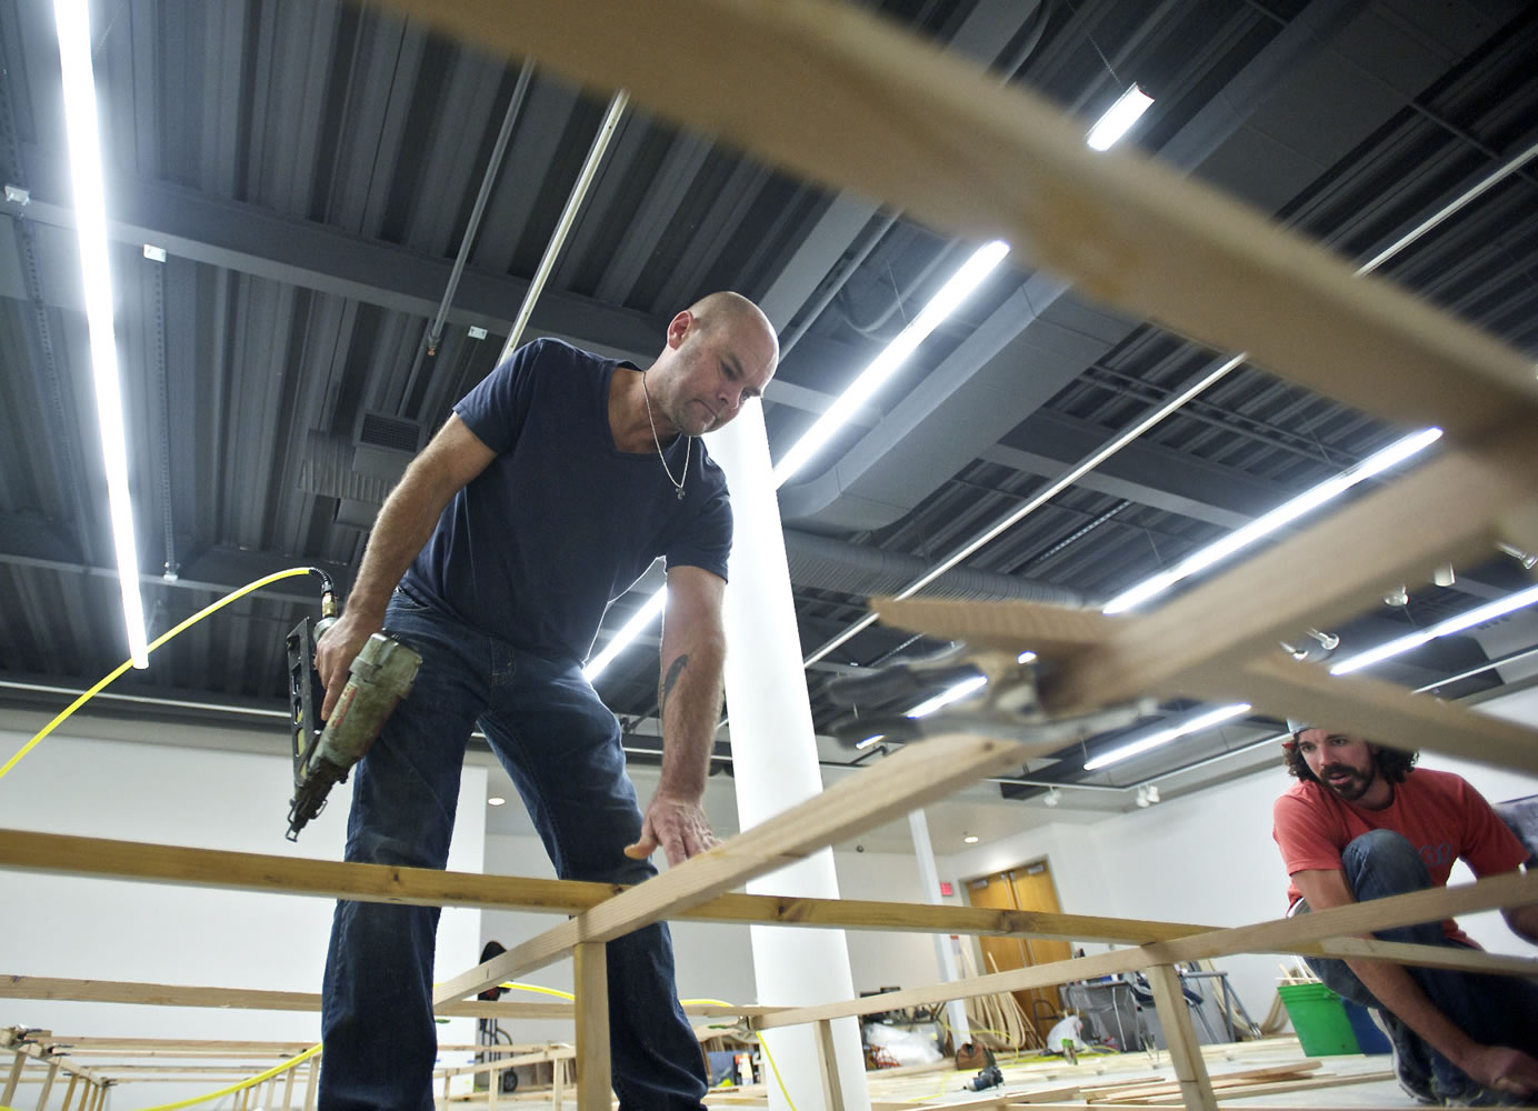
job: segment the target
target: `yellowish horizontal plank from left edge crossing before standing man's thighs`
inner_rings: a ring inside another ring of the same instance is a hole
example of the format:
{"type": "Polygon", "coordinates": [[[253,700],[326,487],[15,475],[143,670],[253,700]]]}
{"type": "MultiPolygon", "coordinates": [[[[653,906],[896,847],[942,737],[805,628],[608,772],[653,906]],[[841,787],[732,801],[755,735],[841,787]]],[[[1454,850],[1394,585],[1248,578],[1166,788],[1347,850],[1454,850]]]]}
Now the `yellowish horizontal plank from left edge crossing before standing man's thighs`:
{"type": "MultiPolygon", "coordinates": [[[[271,891],[392,902],[414,907],[483,907],[578,914],[626,890],[614,884],[481,876],[469,871],[395,868],[378,864],[309,861],[268,853],[155,845],[138,841],[77,837],[31,830],[0,830],[0,868],[186,884],[235,891],[271,891]]],[[[987,907],[869,899],[809,899],[767,894],[718,894],[678,911],[701,922],[755,922],[831,930],[900,930],[904,933],[1021,934],[1078,942],[1143,944],[1203,933],[1189,922],[1144,922],[1094,914],[1047,914],[987,907]]]]}

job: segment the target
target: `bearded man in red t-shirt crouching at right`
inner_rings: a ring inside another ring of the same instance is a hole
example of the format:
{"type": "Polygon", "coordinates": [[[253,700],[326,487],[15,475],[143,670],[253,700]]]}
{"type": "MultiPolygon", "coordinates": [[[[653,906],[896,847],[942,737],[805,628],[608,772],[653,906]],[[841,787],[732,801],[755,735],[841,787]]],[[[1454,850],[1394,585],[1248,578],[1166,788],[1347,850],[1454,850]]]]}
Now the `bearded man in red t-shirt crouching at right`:
{"type": "MultiPolygon", "coordinates": [[[[1415,768],[1415,753],[1289,722],[1289,771],[1272,836],[1292,882],[1289,914],[1444,887],[1453,861],[1475,876],[1529,853],[1463,778],[1415,768]]],[[[1538,905],[1501,911],[1538,944],[1538,905]]],[[[1476,948],[1453,920],[1375,934],[1476,948]]],[[[1538,1094],[1538,985],[1506,976],[1310,959],[1333,991],[1369,1007],[1393,1042],[1400,1083],[1421,1103],[1483,1106],[1538,1094]]]]}

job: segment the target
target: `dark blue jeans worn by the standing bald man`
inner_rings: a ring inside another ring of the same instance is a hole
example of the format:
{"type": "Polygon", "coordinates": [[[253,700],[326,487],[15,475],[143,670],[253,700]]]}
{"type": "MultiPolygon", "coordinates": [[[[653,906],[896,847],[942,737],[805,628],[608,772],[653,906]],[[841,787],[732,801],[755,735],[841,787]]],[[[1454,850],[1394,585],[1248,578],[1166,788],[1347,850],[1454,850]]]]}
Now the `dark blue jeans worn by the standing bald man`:
{"type": "MultiPolygon", "coordinates": [[[[523,652],[400,590],[386,627],[421,653],[421,670],[354,770],[348,861],[444,867],[464,747],[480,722],[561,879],[657,874],[621,851],[640,834],[641,811],[620,725],[577,661],[523,652]]],[[[432,1108],[437,928],[435,907],[337,904],[321,999],[325,1111],[432,1108]]],[[[678,1005],[667,927],[609,942],[608,973],[620,1106],[697,1111],[704,1066],[678,1005]]]]}

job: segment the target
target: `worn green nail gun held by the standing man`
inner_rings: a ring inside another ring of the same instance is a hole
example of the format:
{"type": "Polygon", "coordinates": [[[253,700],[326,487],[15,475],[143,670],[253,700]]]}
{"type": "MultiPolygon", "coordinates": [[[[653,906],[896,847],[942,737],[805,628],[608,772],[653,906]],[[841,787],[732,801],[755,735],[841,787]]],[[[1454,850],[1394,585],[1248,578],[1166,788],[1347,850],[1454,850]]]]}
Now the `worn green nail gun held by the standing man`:
{"type": "Polygon", "coordinates": [[[326,807],[335,784],[345,782],[384,727],[395,704],[411,693],[421,656],[386,632],[374,633],[352,661],[348,685],[321,728],[326,690],[315,670],[315,644],[337,622],[331,576],[321,578],[320,621],[309,618],[288,635],[289,736],[294,754],[294,799],[289,802],[288,839],[326,807]]]}

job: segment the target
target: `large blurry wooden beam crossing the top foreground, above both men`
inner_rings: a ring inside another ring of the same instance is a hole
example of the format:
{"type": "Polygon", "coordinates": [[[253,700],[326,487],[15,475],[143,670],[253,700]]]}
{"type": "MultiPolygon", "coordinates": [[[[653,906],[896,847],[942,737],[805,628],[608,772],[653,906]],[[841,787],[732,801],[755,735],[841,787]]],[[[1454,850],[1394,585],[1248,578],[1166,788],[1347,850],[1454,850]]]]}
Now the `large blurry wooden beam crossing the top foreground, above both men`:
{"type": "Polygon", "coordinates": [[[1472,438],[1538,398],[1518,352],[1169,167],[1089,151],[1084,121],[857,8],[391,5],[944,230],[1007,238],[1092,297],[1367,412],[1472,438]]]}

